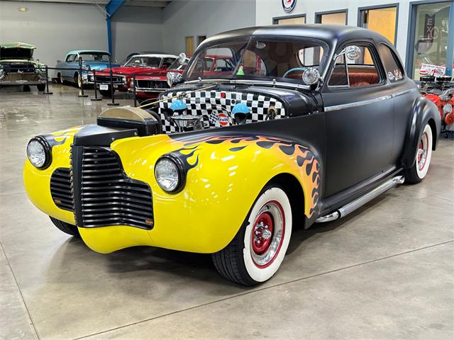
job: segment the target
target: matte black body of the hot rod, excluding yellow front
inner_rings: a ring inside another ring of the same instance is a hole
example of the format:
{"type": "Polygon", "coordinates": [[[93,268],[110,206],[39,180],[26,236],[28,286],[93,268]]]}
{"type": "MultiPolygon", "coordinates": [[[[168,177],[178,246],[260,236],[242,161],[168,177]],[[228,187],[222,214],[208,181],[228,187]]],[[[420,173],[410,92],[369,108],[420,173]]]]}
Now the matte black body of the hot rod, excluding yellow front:
{"type": "MultiPolygon", "coordinates": [[[[421,96],[414,81],[406,74],[392,83],[387,79],[380,56],[377,63],[382,84],[357,89],[332,89],[328,79],[338,52],[352,43],[370,45],[375,52],[380,44],[387,45],[399,56],[394,45],[382,35],[363,28],[331,25],[265,26],[232,30],[215,35],[199,45],[241,37],[284,38],[306,37],[328,45],[328,67],[314,89],[294,84],[265,81],[228,81],[205,79],[186,81],[166,91],[160,98],[218,84],[216,91],[244,91],[279,98],[287,118],[226,128],[175,133],[172,138],[189,135],[240,134],[284,137],[301,145],[309,145],[321,164],[320,200],[316,214],[305,220],[309,227],[317,217],[338,209],[364,195],[387,179],[415,163],[416,149],[426,124],[433,130],[433,150],[438,143],[441,126],[436,106],[421,96]],[[222,130],[220,132],[219,130],[222,130]]],[[[402,61],[399,60],[402,65],[402,61]]],[[[186,68],[190,68],[190,65],[186,68]]]]}

